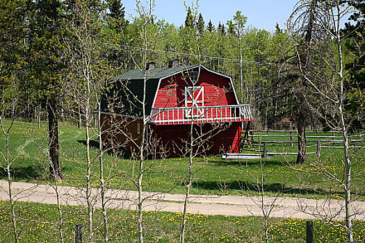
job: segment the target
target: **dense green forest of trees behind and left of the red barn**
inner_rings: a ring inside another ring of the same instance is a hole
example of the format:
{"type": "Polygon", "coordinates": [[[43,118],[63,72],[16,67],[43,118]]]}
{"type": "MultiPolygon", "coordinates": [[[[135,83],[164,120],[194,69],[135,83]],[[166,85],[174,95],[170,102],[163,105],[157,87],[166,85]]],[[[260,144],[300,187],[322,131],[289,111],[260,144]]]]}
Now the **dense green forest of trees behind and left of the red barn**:
{"type": "MultiPolygon", "coordinates": [[[[72,117],[81,121],[85,116],[63,89],[67,80],[75,78],[70,62],[73,33],[64,26],[70,22],[77,24],[72,15],[84,2],[90,9],[101,10],[99,33],[95,33],[92,41],[103,50],[97,55],[101,62],[107,62],[109,78],[142,67],[141,19],[127,20],[122,1],[1,1],[1,92],[8,97],[11,92],[6,90],[6,84],[15,82],[19,87],[16,94],[19,101],[12,112],[21,113],[26,119],[38,119],[43,114],[42,119],[49,120],[50,137],[58,119],[72,117]]],[[[364,2],[354,1],[352,5],[352,22],[343,28],[348,33],[343,44],[344,65],[349,80],[364,89],[364,2]]],[[[298,98],[305,88],[295,86],[298,73],[295,73],[295,60],[291,60],[295,56],[295,43],[289,41],[289,32],[278,24],[270,33],[245,26],[246,21],[247,17],[237,11],[227,23],[214,26],[211,20],[204,20],[198,9],[190,7],[181,26],[153,16],[147,24],[147,40],[154,40],[147,50],[147,61],[161,67],[167,66],[172,58],[177,58],[182,65],[200,62],[232,76],[239,99],[252,107],[256,128],[295,126],[298,114],[303,113],[298,110],[298,103],[305,99],[298,98]]],[[[355,99],[349,102],[352,105],[349,109],[361,106],[355,99]]],[[[314,112],[304,112],[305,126],[323,125],[314,112]]]]}

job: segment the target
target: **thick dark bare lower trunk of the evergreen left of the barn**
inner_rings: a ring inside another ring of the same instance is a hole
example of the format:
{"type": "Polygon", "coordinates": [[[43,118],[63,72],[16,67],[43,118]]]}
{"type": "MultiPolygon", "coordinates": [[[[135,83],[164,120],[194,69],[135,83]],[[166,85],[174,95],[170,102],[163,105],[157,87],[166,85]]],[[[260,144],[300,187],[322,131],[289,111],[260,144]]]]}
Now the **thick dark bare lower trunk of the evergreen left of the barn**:
{"type": "Polygon", "coordinates": [[[60,155],[58,143],[58,120],[57,120],[57,104],[56,97],[48,100],[48,132],[49,132],[49,157],[51,158],[49,165],[49,177],[63,181],[63,174],[60,168],[60,155]]]}

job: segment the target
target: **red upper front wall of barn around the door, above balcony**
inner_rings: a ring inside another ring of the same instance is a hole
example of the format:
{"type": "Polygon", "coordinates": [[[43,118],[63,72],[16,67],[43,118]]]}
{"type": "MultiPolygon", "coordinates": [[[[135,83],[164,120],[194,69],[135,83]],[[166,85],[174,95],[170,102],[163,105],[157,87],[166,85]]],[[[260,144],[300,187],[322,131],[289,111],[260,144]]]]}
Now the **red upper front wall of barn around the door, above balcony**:
{"type": "MultiPolygon", "coordinates": [[[[204,106],[236,105],[237,101],[229,78],[202,69],[197,86],[204,86],[204,106]]],[[[186,86],[191,86],[188,78],[180,73],[161,81],[154,103],[155,108],[184,107],[186,86]]]]}

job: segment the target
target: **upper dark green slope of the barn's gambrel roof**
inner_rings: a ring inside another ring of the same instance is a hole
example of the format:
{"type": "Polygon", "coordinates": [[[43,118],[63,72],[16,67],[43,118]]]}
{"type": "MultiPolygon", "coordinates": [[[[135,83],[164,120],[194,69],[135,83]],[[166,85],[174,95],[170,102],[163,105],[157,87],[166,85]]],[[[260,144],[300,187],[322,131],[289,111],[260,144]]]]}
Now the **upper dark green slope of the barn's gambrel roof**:
{"type": "Polygon", "coordinates": [[[144,73],[146,74],[147,79],[160,79],[172,74],[177,74],[179,72],[184,72],[186,70],[198,67],[198,65],[189,65],[189,66],[177,66],[177,67],[159,67],[159,68],[152,68],[149,70],[140,70],[135,69],[120,76],[113,78],[113,80],[137,80],[143,79],[144,73]]]}

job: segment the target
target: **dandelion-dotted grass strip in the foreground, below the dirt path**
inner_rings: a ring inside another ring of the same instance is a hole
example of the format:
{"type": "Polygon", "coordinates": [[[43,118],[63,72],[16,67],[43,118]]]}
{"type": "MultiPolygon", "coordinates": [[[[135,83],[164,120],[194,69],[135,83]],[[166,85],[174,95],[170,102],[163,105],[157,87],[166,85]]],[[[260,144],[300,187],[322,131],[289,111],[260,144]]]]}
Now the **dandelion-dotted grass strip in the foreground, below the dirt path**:
{"type": "MultiPolygon", "coordinates": [[[[9,205],[0,201],[0,242],[13,242],[13,233],[8,217],[9,205]]],[[[83,225],[83,239],[87,239],[86,209],[63,206],[63,235],[66,242],[74,242],[76,224],[83,225]]],[[[56,206],[40,203],[17,203],[16,212],[23,219],[20,242],[59,242],[56,206]],[[56,224],[56,225],[52,225],[56,224]]],[[[95,211],[95,226],[102,224],[99,212],[95,211]]],[[[109,234],[111,242],[137,242],[136,212],[109,211],[109,234]]],[[[145,242],[179,242],[179,220],[174,212],[145,212],[145,242]]],[[[186,242],[262,242],[262,219],[259,217],[227,217],[212,215],[188,215],[186,242]]],[[[338,222],[341,224],[341,222],[338,222]]],[[[306,221],[302,219],[270,219],[270,242],[305,242],[306,221]]],[[[314,221],[314,242],[346,242],[346,232],[339,226],[330,226],[314,221]]],[[[365,224],[354,227],[355,240],[364,240],[365,224]]],[[[99,231],[95,242],[102,239],[99,231]]]]}

